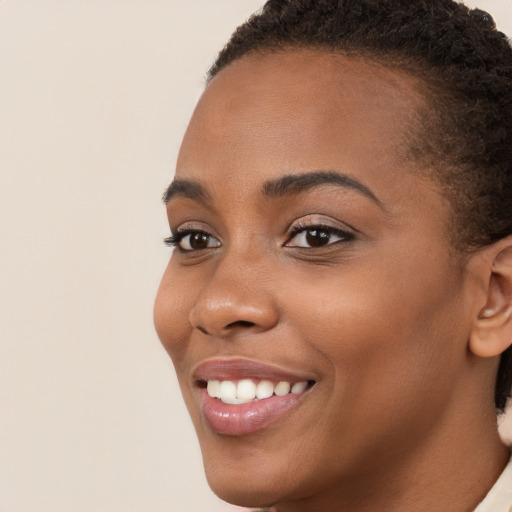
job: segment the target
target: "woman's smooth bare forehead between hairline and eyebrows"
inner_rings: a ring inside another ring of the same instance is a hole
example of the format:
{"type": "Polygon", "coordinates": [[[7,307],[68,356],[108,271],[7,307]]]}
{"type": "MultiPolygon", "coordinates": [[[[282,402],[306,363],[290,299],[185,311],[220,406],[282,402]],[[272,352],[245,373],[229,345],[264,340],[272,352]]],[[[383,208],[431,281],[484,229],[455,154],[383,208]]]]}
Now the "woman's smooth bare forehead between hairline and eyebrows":
{"type": "Polygon", "coordinates": [[[247,186],[312,169],[395,172],[421,102],[413,78],[378,64],[314,50],[249,55],[206,88],[176,174],[247,186]]]}

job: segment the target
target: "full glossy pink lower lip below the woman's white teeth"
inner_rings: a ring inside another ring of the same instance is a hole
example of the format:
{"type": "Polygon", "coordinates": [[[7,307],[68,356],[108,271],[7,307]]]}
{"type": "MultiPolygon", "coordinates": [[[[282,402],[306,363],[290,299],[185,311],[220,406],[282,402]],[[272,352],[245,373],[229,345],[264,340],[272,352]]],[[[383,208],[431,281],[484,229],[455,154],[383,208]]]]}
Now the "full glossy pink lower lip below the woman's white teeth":
{"type": "Polygon", "coordinates": [[[204,417],[214,432],[228,436],[243,436],[277,421],[299,403],[301,396],[289,393],[248,404],[230,405],[212,398],[206,390],[202,390],[201,405],[204,417]]]}

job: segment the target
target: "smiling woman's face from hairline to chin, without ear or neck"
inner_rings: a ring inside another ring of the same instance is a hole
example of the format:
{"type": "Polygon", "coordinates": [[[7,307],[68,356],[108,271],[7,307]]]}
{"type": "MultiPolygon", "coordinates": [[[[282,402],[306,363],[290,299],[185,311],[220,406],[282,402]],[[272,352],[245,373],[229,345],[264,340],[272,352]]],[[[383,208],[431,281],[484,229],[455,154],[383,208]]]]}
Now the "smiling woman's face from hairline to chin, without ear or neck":
{"type": "Polygon", "coordinates": [[[221,498],[354,490],[456,407],[468,278],[406,157],[420,102],[404,76],[312,51],[243,58],[200,100],[155,322],[221,498]]]}

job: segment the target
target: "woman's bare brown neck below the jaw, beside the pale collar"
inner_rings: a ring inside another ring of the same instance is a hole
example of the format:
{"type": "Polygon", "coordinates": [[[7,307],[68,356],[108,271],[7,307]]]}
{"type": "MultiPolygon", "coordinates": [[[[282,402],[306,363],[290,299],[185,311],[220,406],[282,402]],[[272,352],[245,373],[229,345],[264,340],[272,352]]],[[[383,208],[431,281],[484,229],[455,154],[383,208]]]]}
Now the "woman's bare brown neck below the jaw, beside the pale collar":
{"type": "Polygon", "coordinates": [[[384,449],[371,466],[336,489],[272,511],[473,512],[509,457],[494,414],[478,425],[466,415],[450,417],[406,454],[396,457],[384,449]]]}

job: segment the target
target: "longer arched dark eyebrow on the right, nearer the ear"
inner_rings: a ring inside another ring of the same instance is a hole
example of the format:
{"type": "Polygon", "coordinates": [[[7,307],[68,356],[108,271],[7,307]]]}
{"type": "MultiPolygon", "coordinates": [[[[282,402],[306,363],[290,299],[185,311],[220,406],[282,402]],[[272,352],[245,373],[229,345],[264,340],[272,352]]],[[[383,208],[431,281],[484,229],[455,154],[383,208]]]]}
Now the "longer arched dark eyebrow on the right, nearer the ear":
{"type": "Polygon", "coordinates": [[[371,199],[381,208],[383,205],[377,196],[363,183],[338,171],[311,171],[304,174],[289,174],[275,180],[267,181],[263,187],[263,195],[278,198],[286,195],[301,194],[322,185],[336,185],[359,192],[371,199]]]}

